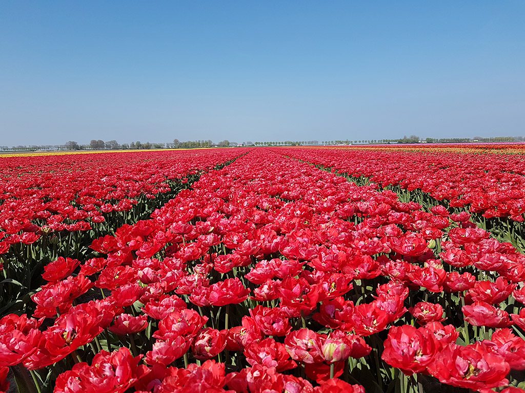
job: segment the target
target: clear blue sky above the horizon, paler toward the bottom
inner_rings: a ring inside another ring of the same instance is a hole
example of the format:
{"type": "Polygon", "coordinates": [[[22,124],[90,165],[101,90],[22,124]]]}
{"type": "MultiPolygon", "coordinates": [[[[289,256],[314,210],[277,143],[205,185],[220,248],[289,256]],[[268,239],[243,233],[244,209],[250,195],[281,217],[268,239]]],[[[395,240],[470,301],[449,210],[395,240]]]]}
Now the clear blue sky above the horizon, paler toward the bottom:
{"type": "Polygon", "coordinates": [[[525,136],[525,2],[0,2],[0,145],[525,136]]]}

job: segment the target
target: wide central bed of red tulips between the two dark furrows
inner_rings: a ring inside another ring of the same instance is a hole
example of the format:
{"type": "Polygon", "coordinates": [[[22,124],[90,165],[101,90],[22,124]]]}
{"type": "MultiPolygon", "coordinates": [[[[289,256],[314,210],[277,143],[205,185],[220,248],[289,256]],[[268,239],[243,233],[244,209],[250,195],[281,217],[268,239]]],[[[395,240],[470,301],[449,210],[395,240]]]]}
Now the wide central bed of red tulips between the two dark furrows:
{"type": "Polygon", "coordinates": [[[315,157],[253,150],[47,264],[0,320],[0,390],[523,391],[525,256],[292,150],[315,157]]]}

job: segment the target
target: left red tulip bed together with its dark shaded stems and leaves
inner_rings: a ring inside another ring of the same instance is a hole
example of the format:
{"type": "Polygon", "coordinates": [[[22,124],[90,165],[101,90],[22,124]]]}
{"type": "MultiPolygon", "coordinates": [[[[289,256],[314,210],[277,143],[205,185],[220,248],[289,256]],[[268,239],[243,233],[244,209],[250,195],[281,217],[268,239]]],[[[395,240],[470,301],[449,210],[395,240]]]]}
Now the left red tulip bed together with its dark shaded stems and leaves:
{"type": "Polygon", "coordinates": [[[43,267],[86,259],[93,238],[149,217],[202,171],[239,150],[156,151],[0,159],[0,316],[29,311],[43,267]]]}

